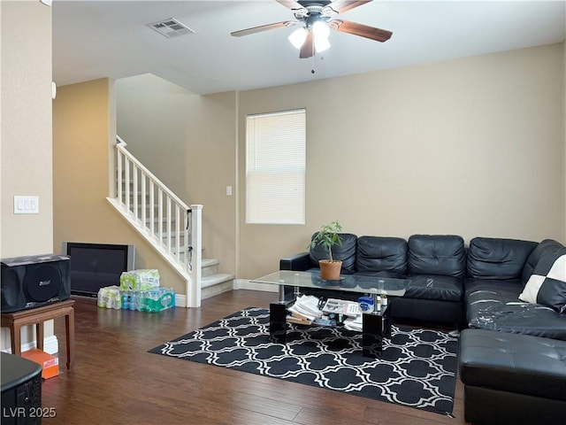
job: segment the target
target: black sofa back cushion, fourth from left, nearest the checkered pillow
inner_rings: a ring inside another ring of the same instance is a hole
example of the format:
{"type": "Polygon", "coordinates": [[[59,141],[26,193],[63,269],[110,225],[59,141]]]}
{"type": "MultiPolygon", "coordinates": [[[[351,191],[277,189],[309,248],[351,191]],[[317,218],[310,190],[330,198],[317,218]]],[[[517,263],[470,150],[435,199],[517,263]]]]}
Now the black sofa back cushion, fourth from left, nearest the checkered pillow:
{"type": "Polygon", "coordinates": [[[468,275],[478,279],[521,279],[536,242],[474,237],[468,250],[468,275]]]}

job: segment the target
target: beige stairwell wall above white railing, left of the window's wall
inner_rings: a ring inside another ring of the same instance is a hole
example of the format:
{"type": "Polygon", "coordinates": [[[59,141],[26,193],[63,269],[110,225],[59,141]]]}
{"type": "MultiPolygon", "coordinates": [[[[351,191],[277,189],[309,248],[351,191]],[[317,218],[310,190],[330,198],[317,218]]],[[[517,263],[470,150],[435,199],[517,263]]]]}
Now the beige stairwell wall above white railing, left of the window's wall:
{"type": "Polygon", "coordinates": [[[144,74],[116,81],[117,127],[127,149],[187,204],[203,207],[203,258],[236,261],[235,94],[199,96],[144,74]]]}

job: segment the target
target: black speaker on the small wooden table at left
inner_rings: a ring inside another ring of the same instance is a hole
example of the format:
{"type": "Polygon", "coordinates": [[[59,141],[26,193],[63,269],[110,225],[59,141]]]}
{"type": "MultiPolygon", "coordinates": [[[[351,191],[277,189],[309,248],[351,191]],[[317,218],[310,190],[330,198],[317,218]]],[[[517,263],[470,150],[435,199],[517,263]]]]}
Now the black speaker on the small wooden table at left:
{"type": "Polygon", "coordinates": [[[56,254],[2,259],[2,313],[71,297],[70,265],[70,257],[56,254]]]}

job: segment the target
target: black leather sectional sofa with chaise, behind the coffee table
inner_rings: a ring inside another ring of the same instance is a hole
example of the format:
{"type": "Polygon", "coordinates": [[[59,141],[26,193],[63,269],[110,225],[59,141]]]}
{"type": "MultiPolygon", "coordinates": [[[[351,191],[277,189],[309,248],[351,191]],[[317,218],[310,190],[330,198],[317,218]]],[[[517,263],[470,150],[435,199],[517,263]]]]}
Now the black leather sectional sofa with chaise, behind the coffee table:
{"type": "MultiPolygon", "coordinates": [[[[404,297],[390,301],[393,321],[463,329],[466,421],[566,423],[562,243],[474,237],[466,244],[455,235],[405,240],[342,234],[333,257],[342,260],[342,274],[411,280],[404,297]]],[[[316,273],[318,259],[325,258],[315,247],[280,259],[279,268],[316,273]]]]}

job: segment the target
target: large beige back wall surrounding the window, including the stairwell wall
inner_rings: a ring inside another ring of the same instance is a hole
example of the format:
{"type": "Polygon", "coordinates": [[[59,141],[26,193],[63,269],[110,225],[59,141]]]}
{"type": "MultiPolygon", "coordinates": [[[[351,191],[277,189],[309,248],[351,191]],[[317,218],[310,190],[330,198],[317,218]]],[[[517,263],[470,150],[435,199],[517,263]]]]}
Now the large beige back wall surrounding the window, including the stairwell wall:
{"type": "Polygon", "coordinates": [[[560,43],[206,97],[142,75],[117,81],[119,135],[204,205],[203,255],[241,279],[277,269],[335,219],[357,235],[565,242],[563,57],[560,43]],[[245,116],[297,107],[307,223],[247,225],[245,116]]]}

